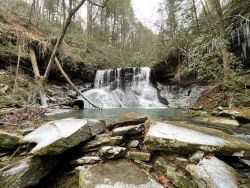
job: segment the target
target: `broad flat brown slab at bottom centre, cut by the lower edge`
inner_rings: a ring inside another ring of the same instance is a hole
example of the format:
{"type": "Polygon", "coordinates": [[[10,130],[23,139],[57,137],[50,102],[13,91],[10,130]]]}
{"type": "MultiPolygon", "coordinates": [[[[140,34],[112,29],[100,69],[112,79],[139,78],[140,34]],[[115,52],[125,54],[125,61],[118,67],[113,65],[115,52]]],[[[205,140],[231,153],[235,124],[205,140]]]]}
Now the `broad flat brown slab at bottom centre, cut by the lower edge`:
{"type": "Polygon", "coordinates": [[[78,170],[80,188],[163,188],[145,171],[124,159],[78,170]]]}

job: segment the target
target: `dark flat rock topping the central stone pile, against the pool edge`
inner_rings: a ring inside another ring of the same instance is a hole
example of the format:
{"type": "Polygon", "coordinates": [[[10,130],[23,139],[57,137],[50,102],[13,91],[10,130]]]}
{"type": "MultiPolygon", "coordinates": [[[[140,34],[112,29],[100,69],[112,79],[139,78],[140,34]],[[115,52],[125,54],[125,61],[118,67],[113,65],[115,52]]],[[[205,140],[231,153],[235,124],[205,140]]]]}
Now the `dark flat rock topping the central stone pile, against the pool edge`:
{"type": "Polygon", "coordinates": [[[137,125],[144,123],[147,120],[147,117],[136,117],[136,116],[126,116],[123,117],[122,120],[118,120],[115,122],[111,122],[107,124],[107,127],[109,129],[115,128],[115,127],[123,127],[128,125],[137,125]]]}

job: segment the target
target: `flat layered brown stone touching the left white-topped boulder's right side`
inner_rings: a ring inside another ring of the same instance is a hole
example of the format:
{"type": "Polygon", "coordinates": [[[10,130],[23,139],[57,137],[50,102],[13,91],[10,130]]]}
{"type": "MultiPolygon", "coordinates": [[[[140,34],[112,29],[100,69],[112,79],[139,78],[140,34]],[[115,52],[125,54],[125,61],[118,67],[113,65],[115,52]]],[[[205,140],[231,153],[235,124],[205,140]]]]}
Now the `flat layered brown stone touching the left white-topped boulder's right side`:
{"type": "Polygon", "coordinates": [[[117,146],[121,145],[125,141],[124,136],[110,136],[109,134],[100,134],[95,136],[92,140],[84,143],[80,150],[82,152],[96,151],[101,146],[117,146]]]}

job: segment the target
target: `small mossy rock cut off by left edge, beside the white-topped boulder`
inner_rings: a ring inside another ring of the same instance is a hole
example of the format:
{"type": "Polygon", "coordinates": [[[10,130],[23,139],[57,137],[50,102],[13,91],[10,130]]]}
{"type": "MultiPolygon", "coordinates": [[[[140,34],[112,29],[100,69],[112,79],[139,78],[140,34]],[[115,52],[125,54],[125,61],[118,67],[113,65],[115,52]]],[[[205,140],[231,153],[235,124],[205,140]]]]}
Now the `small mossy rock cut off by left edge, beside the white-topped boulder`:
{"type": "Polygon", "coordinates": [[[22,136],[0,130],[0,147],[4,149],[15,149],[19,145],[22,136]]]}

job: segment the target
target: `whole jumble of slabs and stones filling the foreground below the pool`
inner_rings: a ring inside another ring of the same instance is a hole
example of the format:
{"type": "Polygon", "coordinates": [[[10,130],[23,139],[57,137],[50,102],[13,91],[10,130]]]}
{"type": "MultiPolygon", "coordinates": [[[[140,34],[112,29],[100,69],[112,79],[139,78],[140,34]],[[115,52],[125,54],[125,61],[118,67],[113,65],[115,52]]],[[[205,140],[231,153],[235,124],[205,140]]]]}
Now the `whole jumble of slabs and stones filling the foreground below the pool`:
{"type": "Polygon", "coordinates": [[[239,171],[249,168],[248,142],[183,121],[67,118],[23,135],[1,131],[0,147],[2,188],[250,185],[239,171]]]}

